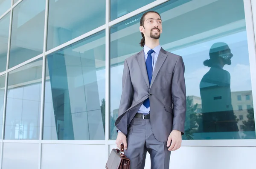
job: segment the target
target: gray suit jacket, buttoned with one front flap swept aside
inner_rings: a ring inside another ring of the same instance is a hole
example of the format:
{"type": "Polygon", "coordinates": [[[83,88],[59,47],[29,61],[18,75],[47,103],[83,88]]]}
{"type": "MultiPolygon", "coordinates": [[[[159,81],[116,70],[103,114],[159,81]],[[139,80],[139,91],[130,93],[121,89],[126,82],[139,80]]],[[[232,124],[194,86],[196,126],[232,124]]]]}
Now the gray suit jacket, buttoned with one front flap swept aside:
{"type": "Polygon", "coordinates": [[[151,128],[156,139],[167,141],[172,130],[179,130],[184,134],[184,71],[182,57],[161,48],[149,85],[143,50],[125,59],[116,128],[127,135],[131,120],[143,101],[149,97],[151,128]]]}

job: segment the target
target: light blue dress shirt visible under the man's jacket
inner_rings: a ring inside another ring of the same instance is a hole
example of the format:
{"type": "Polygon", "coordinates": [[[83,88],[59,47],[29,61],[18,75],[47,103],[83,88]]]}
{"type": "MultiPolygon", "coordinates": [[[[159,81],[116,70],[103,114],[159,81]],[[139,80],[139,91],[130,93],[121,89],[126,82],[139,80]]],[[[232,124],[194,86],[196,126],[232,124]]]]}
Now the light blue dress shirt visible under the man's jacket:
{"type": "MultiPolygon", "coordinates": [[[[158,46],[156,46],[156,47],[154,47],[154,52],[153,53],[151,53],[151,56],[152,56],[152,74],[153,74],[153,72],[154,72],[154,67],[155,67],[155,65],[156,65],[156,63],[157,63],[157,57],[158,57],[158,54],[159,54],[159,52],[160,52],[160,49],[161,49],[161,46],[160,45],[158,45],[158,46]]],[[[148,53],[148,51],[150,50],[150,48],[148,47],[148,46],[146,46],[146,45],[144,45],[144,57],[145,57],[145,64],[146,64],[146,60],[147,60],[147,57],[148,57],[148,55],[147,55],[147,53],[148,53]]],[[[139,111],[138,111],[138,113],[143,113],[143,114],[148,114],[150,112],[150,107],[148,107],[148,108],[146,108],[143,104],[140,106],[140,109],[139,109],[139,111]]]]}

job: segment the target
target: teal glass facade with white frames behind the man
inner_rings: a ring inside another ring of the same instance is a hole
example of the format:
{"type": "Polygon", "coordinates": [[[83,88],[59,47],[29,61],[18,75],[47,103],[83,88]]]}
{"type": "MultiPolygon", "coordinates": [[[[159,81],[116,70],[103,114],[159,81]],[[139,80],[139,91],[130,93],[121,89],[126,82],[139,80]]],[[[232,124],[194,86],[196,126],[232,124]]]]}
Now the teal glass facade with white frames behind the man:
{"type": "Polygon", "coordinates": [[[256,56],[244,0],[12,2],[0,0],[0,151],[21,140],[112,145],[124,60],[143,50],[140,18],[151,10],[163,20],[161,47],[185,64],[186,145],[256,140],[256,56]]]}

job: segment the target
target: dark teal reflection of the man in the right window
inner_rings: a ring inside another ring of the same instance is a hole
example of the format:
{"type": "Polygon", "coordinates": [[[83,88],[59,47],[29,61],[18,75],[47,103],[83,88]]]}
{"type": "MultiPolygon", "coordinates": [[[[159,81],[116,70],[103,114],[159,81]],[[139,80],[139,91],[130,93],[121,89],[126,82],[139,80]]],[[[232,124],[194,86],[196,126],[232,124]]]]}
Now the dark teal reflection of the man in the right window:
{"type": "Polygon", "coordinates": [[[230,73],[223,69],[224,65],[231,65],[233,54],[226,43],[214,43],[209,56],[210,59],[205,60],[204,65],[210,67],[210,70],[200,83],[203,119],[199,131],[230,132],[221,138],[237,139],[239,135],[231,103],[230,73]]]}

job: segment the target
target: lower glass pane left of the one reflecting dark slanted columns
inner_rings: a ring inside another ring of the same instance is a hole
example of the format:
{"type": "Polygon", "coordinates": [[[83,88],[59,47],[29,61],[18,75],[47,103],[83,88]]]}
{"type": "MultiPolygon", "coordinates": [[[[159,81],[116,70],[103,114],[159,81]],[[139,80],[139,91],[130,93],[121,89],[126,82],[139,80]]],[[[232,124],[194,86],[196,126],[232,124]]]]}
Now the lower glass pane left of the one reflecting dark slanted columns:
{"type": "Polygon", "coordinates": [[[42,58],[9,72],[4,139],[38,140],[42,58]]]}

